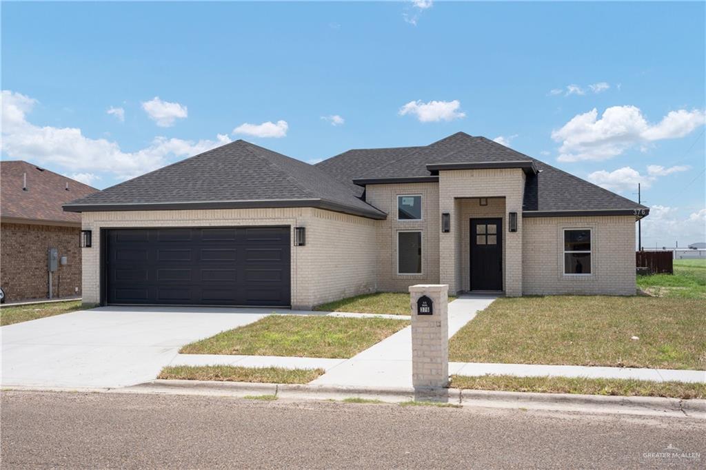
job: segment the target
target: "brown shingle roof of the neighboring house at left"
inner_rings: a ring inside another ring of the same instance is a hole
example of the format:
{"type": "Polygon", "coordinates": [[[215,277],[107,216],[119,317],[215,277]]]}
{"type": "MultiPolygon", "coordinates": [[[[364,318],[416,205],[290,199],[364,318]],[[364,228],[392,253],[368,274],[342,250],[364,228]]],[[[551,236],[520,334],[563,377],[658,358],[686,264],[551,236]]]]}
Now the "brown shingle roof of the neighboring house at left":
{"type": "Polygon", "coordinates": [[[64,212],[61,205],[97,191],[28,162],[0,162],[0,216],[4,220],[79,226],[80,215],[64,212]],[[26,191],[23,189],[25,175],[26,191]]]}

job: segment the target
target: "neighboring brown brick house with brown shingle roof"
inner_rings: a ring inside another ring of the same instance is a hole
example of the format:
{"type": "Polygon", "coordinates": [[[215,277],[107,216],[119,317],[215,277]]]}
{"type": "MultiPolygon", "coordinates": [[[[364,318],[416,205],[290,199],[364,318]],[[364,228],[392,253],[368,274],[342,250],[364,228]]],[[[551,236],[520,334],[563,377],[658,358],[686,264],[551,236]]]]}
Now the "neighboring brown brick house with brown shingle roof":
{"type": "Polygon", "coordinates": [[[0,162],[0,287],[6,302],[47,298],[49,248],[67,261],[52,275],[53,296],[80,296],[80,215],[61,205],[97,191],[28,162],[0,162]]]}

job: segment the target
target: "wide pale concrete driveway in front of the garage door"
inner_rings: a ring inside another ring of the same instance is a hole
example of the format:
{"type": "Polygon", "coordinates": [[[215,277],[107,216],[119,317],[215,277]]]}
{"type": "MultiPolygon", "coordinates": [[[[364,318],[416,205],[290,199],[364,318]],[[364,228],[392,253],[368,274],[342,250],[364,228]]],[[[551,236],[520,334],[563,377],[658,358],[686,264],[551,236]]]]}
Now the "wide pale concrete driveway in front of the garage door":
{"type": "Polygon", "coordinates": [[[0,328],[0,384],[69,388],[135,385],[155,378],[184,344],[253,323],[273,311],[102,307],[8,325],[0,328]]]}

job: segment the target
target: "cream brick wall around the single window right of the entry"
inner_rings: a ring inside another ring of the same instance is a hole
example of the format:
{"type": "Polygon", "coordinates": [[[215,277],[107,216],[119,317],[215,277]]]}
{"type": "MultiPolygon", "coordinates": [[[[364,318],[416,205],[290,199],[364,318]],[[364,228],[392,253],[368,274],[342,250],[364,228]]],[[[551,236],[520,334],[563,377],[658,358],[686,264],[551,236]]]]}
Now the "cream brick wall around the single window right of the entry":
{"type": "Polygon", "coordinates": [[[527,217],[525,294],[635,295],[635,217],[527,217]],[[592,274],[563,274],[563,229],[591,229],[592,274]]]}

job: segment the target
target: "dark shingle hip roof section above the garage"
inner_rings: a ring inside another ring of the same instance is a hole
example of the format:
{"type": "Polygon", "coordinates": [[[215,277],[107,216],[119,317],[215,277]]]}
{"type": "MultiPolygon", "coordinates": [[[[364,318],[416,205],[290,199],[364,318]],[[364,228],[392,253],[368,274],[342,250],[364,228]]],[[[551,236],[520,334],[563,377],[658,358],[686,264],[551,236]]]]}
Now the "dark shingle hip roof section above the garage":
{"type": "Polygon", "coordinates": [[[321,169],[245,140],[64,205],[73,212],[246,207],[320,207],[386,217],[321,169]]]}

